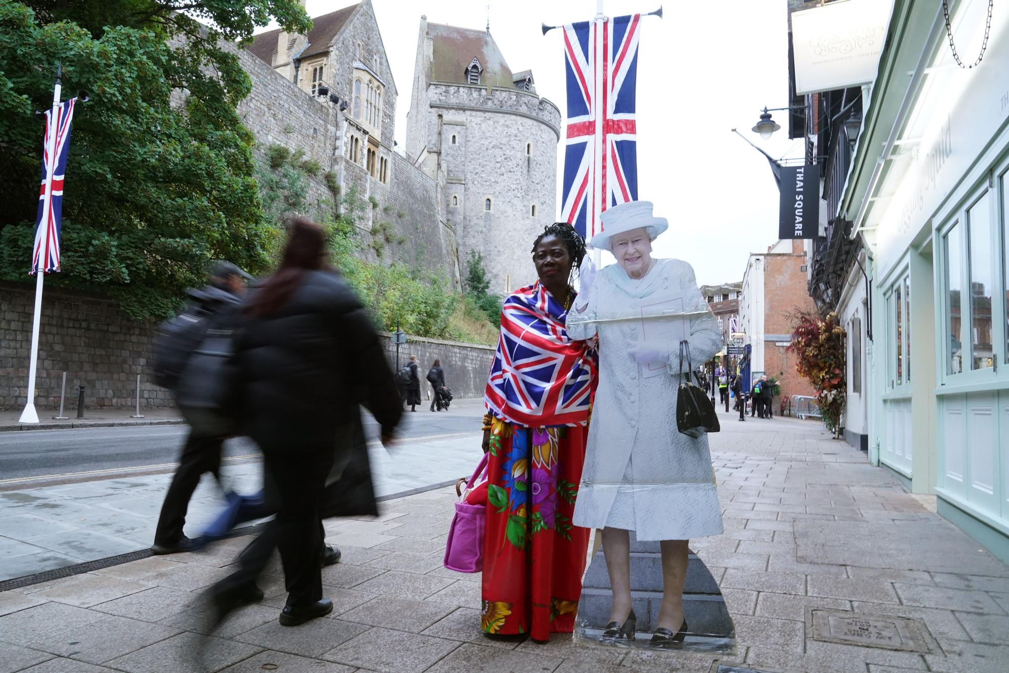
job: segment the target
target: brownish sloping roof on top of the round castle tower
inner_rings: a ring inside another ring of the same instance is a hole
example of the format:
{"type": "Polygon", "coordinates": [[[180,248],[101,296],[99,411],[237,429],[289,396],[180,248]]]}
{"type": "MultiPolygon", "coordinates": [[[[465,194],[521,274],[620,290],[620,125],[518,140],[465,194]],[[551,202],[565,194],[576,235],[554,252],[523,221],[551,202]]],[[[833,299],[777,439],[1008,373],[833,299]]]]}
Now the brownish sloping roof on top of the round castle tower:
{"type": "Polygon", "coordinates": [[[473,57],[480,62],[483,71],[480,85],[515,88],[512,69],[486,30],[459,28],[442,23],[428,23],[431,36],[433,60],[431,80],[433,82],[466,83],[466,68],[473,57]]]}

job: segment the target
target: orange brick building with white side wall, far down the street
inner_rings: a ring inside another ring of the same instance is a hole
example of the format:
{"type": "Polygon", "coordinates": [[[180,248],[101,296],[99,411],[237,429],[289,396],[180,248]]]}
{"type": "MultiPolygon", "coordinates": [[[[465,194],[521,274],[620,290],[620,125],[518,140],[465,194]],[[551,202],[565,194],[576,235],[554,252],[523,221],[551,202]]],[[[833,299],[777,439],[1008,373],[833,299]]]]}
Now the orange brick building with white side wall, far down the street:
{"type": "Polygon", "coordinates": [[[807,289],[805,241],[779,241],[767,253],[753,253],[743,276],[740,327],[750,344],[753,377],[767,374],[781,382],[782,395],[813,395],[809,382],[795,371],[790,315],[815,310],[807,289]]]}

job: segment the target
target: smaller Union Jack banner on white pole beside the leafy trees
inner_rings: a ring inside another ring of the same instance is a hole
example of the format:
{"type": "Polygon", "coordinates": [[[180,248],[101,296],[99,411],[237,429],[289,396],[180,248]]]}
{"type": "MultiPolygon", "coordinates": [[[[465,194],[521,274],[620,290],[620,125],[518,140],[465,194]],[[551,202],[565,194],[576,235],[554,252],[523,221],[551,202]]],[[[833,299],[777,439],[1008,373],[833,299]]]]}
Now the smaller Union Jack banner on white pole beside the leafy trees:
{"type": "Polygon", "coordinates": [[[60,221],[63,214],[64,174],[70,152],[70,122],[74,116],[76,98],[52,106],[45,111],[45,142],[42,148],[42,187],[38,195],[38,216],[35,220],[35,245],[31,253],[31,271],[60,271],[60,221]],[[54,148],[50,154],[49,150],[54,148]],[[45,194],[45,183],[52,176],[52,185],[45,194]],[[44,228],[43,228],[44,227],[44,228]],[[42,238],[45,238],[42,250],[42,238]]]}

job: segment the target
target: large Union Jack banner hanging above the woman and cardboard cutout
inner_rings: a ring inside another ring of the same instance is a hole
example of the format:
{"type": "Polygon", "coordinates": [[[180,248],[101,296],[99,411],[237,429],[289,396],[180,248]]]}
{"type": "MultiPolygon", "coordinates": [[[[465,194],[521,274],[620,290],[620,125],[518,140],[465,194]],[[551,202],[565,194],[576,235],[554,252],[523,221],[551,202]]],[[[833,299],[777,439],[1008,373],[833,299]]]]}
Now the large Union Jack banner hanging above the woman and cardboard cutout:
{"type": "Polygon", "coordinates": [[[635,95],[641,14],[564,26],[567,71],[567,147],[561,217],[586,238],[598,232],[595,212],[638,200],[635,95]],[[602,40],[601,73],[596,40],[602,40]],[[597,80],[598,77],[598,80],[597,80]],[[601,138],[596,166],[596,119],[601,138]],[[596,207],[598,202],[598,207],[596,207]]]}

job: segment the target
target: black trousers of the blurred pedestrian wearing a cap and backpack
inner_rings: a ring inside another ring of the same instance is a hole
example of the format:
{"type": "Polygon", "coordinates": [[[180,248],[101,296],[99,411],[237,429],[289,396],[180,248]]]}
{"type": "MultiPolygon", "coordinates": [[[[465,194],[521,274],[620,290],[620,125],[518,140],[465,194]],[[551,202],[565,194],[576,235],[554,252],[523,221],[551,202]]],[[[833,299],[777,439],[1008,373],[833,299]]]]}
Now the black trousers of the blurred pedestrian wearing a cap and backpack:
{"type": "Polygon", "coordinates": [[[207,437],[190,429],[179,458],[179,469],[172,477],[172,484],[161,505],[161,514],[154,531],[155,545],[174,545],[183,537],[190,498],[205,472],[210,472],[218,481],[221,480],[223,444],[222,437],[207,437]]]}

